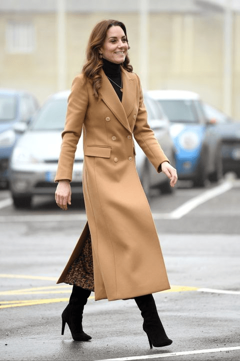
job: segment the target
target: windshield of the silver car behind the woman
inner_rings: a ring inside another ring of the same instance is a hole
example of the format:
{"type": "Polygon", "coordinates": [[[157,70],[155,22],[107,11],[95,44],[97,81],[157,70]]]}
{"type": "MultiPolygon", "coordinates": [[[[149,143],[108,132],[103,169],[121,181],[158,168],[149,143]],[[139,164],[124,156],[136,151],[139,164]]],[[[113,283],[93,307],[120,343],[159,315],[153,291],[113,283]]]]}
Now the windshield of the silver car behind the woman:
{"type": "Polygon", "coordinates": [[[66,115],[67,99],[54,99],[45,103],[36,113],[30,129],[63,130],[66,115]]]}

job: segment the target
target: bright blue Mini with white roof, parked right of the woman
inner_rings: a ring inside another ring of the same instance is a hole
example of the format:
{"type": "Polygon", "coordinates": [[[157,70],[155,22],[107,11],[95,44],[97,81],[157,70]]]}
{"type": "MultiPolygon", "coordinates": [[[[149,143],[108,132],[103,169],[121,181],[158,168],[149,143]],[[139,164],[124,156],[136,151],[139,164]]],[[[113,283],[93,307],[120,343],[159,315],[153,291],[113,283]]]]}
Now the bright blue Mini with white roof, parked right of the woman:
{"type": "Polygon", "coordinates": [[[221,142],[209,126],[199,95],[182,90],[152,90],[148,94],[159,102],[171,122],[178,179],[192,180],[197,187],[203,187],[207,178],[220,179],[221,142]]]}

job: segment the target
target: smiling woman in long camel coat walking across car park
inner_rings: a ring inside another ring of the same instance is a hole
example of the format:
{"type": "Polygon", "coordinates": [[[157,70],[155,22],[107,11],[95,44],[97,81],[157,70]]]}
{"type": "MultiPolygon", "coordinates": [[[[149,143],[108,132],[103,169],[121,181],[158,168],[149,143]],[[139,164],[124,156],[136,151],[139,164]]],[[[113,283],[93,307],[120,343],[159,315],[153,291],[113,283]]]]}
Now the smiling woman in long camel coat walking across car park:
{"type": "Polygon", "coordinates": [[[83,131],[87,223],[57,281],[73,285],[62,312],[62,334],[67,323],[73,339],[91,338],[82,330],[82,312],[94,291],[95,300],[134,298],[150,347],[160,347],[172,341],[165,334],[151,293],[170,287],[135,168],[132,135],[172,187],[177,176],[147,124],[140,82],[132,73],[128,49],[121,22],[96,24],[88,41],[86,64],[73,80],[68,98],[55,200],[63,210],[71,204],[72,166],[83,131]]]}

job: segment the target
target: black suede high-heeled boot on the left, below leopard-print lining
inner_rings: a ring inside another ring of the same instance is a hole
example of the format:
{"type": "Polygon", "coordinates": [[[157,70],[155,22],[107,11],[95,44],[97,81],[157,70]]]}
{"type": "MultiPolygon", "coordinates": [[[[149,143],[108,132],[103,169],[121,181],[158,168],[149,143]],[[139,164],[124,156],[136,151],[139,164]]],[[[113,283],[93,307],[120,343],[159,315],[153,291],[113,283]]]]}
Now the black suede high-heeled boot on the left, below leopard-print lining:
{"type": "Polygon", "coordinates": [[[83,289],[73,285],[69,303],[61,314],[61,334],[64,333],[65,324],[67,323],[71,331],[72,338],[75,341],[88,341],[91,339],[91,336],[88,336],[88,334],[82,330],[83,308],[90,293],[91,291],[88,289],[83,289]]]}

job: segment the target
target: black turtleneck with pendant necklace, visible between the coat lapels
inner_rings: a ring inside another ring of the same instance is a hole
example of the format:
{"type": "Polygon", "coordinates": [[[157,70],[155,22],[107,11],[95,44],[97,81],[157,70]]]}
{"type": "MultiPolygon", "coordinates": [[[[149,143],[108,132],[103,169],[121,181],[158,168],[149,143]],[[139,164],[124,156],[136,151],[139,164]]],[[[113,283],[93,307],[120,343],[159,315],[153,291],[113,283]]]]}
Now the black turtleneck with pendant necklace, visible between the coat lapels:
{"type": "Polygon", "coordinates": [[[109,82],[111,83],[113,89],[115,90],[120,102],[122,99],[122,92],[120,91],[121,86],[121,66],[120,64],[111,63],[106,59],[103,59],[103,72],[107,76],[109,82]],[[117,86],[117,85],[118,86],[117,86]]]}

